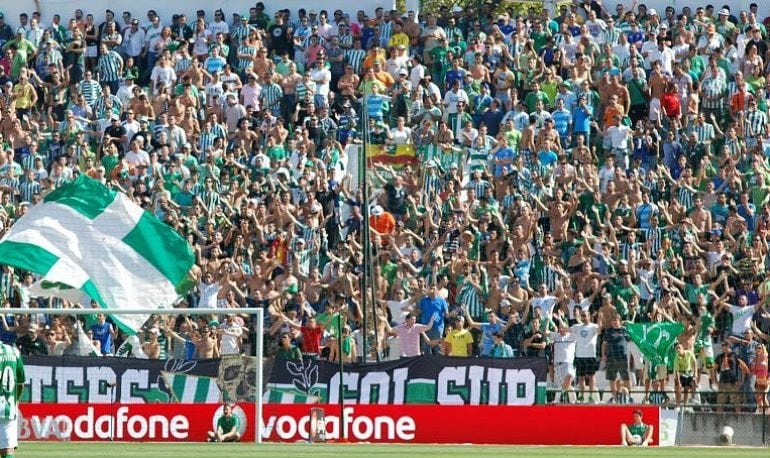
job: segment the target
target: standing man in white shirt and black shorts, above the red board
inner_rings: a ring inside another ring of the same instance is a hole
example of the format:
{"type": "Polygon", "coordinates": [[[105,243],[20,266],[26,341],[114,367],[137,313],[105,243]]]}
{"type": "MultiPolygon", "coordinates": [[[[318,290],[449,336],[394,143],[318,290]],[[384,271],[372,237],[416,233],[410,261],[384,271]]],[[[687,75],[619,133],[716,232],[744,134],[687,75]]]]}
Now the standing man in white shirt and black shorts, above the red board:
{"type": "Polygon", "coordinates": [[[596,358],[596,345],[599,337],[599,325],[591,322],[588,309],[575,310],[579,324],[572,326],[570,334],[575,337],[575,369],[578,379],[578,399],[583,399],[588,385],[588,402],[594,402],[596,392],[596,371],[599,360],[596,358]]]}

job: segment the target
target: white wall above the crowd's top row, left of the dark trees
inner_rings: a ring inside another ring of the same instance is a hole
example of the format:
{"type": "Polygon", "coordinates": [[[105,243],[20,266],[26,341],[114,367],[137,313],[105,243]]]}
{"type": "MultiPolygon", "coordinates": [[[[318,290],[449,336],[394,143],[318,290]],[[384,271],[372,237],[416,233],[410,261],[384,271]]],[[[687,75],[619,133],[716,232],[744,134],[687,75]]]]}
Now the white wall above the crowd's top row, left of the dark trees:
{"type": "MultiPolygon", "coordinates": [[[[134,17],[138,17],[140,21],[147,20],[147,11],[154,9],[161,17],[163,24],[171,24],[171,16],[173,14],[185,13],[189,18],[195,18],[195,12],[199,9],[206,11],[206,19],[209,21],[214,20],[214,10],[222,8],[225,12],[225,19],[228,22],[232,20],[233,13],[248,14],[249,8],[253,7],[258,0],[186,0],[184,2],[177,1],[158,1],[158,0],[39,0],[40,9],[42,10],[42,21],[44,24],[49,25],[51,18],[54,14],[59,14],[62,17],[62,23],[66,25],[67,20],[75,15],[75,10],[80,8],[83,10],[83,14],[91,13],[94,15],[94,22],[97,24],[104,20],[104,11],[111,9],[115,12],[116,19],[122,21],[121,14],[123,11],[130,11],[134,17]]],[[[277,9],[288,8],[293,14],[292,18],[296,19],[296,11],[300,8],[306,10],[322,10],[329,11],[329,15],[335,9],[341,9],[352,17],[355,17],[356,11],[362,9],[372,14],[375,8],[381,6],[383,8],[394,8],[395,0],[335,0],[334,2],[319,2],[314,0],[262,0],[265,4],[265,9],[268,14],[272,16],[273,11],[277,9]]],[[[19,14],[27,13],[32,15],[35,11],[35,3],[31,0],[0,0],[0,10],[5,13],[5,22],[12,27],[15,27],[19,23],[19,14]]]]}

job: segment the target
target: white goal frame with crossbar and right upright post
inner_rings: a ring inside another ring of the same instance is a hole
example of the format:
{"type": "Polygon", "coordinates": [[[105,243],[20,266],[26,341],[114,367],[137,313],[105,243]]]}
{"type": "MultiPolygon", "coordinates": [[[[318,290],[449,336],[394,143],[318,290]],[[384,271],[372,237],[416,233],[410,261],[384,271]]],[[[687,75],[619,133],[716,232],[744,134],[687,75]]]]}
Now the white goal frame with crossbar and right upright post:
{"type": "Polygon", "coordinates": [[[262,443],[262,385],[264,369],[262,364],[264,362],[264,320],[265,310],[260,307],[244,307],[244,308],[169,308],[169,309],[109,309],[109,308],[18,308],[18,309],[3,309],[4,313],[13,315],[93,315],[96,313],[103,313],[105,315],[228,315],[228,314],[244,314],[256,316],[256,342],[254,345],[255,356],[257,363],[255,366],[255,385],[256,396],[254,399],[254,441],[257,444],[262,443]]]}

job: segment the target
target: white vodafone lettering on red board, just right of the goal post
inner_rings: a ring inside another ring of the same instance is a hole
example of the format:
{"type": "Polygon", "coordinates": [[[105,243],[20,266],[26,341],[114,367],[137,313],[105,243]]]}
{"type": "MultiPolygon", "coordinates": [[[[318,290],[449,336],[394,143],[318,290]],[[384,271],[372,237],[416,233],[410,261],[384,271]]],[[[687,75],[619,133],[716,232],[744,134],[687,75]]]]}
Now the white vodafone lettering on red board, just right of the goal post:
{"type": "MultiPolygon", "coordinates": [[[[340,417],[326,417],[326,439],[339,439],[340,432],[347,432],[347,437],[358,441],[368,440],[414,440],[416,423],[409,416],[391,417],[356,415],[353,407],[345,408],[345,422],[340,425],[340,417]]],[[[309,437],[310,415],[299,419],[291,415],[270,416],[263,425],[263,438],[269,439],[275,434],[279,439],[307,439],[309,437]],[[298,437],[299,436],[299,437],[298,437]]]]}

